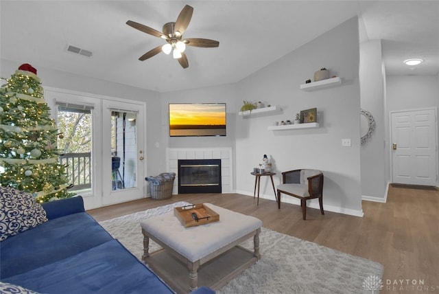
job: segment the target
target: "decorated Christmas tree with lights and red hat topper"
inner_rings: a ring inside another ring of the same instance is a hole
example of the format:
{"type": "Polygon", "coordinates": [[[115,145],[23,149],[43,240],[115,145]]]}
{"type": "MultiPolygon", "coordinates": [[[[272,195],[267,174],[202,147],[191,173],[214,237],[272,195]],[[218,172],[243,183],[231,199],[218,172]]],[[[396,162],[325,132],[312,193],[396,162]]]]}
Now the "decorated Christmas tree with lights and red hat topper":
{"type": "Polygon", "coordinates": [[[21,65],[1,86],[0,98],[0,185],[29,192],[39,203],[73,196],[36,69],[21,65]]]}

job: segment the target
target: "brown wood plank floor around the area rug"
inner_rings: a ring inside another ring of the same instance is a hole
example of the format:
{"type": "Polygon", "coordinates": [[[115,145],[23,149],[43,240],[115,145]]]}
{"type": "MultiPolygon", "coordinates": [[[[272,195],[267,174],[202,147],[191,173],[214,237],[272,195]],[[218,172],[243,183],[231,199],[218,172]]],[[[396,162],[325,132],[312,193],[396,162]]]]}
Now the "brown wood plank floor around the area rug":
{"type": "Polygon", "coordinates": [[[177,201],[209,202],[255,216],[263,227],[316,242],[384,266],[381,293],[439,293],[439,190],[389,187],[387,203],[363,201],[364,217],[308,208],[241,194],[180,194],[172,199],[141,199],[88,211],[97,221],[177,201]]]}

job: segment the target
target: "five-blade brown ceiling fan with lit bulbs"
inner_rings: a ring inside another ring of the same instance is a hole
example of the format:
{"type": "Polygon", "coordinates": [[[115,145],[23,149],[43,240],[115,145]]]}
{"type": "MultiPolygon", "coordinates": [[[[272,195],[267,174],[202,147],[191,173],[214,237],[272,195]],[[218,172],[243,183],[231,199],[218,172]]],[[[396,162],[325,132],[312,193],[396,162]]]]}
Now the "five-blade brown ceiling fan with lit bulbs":
{"type": "Polygon", "coordinates": [[[165,52],[165,54],[170,54],[172,52],[174,58],[177,59],[178,63],[180,63],[180,65],[185,69],[189,67],[187,56],[185,54],[186,46],[218,47],[219,42],[215,40],[210,40],[207,38],[183,38],[183,33],[191,21],[192,13],[193,8],[189,5],[185,5],[180,14],[178,14],[177,21],[175,23],[165,23],[165,25],[163,25],[163,32],[154,30],[153,28],[142,25],[141,23],[136,23],[135,21],[127,21],[126,24],[134,27],[134,29],[145,32],[146,34],[150,34],[152,36],[163,38],[167,41],[165,45],[155,47],[154,49],[143,54],[139,60],[143,61],[147,58],[151,58],[152,56],[159,54],[161,51],[165,52]]]}

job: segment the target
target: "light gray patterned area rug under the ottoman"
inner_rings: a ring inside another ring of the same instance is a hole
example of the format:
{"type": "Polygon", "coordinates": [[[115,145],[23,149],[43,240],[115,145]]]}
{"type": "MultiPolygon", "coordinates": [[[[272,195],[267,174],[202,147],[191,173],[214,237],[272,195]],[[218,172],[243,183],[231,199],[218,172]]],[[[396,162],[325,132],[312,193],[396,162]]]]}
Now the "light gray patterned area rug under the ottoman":
{"type": "MultiPolygon", "coordinates": [[[[100,224],[140,260],[140,222],[187,204],[180,201],[100,224]]],[[[241,246],[252,249],[252,238],[241,246]]],[[[158,249],[151,240],[150,252],[158,249]]],[[[261,260],[217,293],[379,293],[383,266],[377,262],[265,228],[261,229],[260,252],[261,260]]]]}

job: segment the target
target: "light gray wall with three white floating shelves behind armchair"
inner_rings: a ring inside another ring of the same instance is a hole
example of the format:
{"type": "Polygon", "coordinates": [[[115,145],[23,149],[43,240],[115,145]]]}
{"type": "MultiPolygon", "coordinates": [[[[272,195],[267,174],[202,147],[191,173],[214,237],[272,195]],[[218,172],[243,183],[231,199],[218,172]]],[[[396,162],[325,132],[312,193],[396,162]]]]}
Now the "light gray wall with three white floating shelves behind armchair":
{"type": "MultiPolygon", "coordinates": [[[[276,184],[280,173],[296,168],[316,168],[324,173],[324,208],[362,215],[359,141],[359,35],[356,18],[335,27],[291,54],[238,83],[237,100],[261,101],[281,106],[283,113],[237,117],[237,192],[253,194],[252,168],[264,154],[274,163],[276,184]],[[300,84],[313,72],[327,67],[342,85],[318,91],[301,91],[300,84]],[[317,107],[320,128],[268,131],[274,121],[294,120],[300,110],[317,107]],[[351,147],[342,147],[342,139],[351,147]]],[[[263,183],[264,198],[274,200],[270,183],[263,183]]],[[[282,201],[298,203],[283,196],[282,201]]],[[[318,201],[311,201],[318,207],[318,201]]]]}

